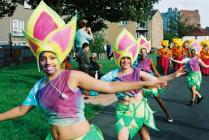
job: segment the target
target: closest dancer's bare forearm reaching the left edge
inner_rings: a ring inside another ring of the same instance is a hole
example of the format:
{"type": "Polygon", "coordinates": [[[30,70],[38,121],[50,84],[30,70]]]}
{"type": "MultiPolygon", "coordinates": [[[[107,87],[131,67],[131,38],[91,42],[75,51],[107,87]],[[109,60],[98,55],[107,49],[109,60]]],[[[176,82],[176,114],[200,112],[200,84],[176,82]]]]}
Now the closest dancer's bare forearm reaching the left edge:
{"type": "Polygon", "coordinates": [[[4,113],[1,113],[0,121],[9,120],[9,119],[23,116],[26,113],[28,113],[30,110],[32,110],[33,108],[34,108],[33,106],[24,106],[24,105],[17,106],[4,113]]]}

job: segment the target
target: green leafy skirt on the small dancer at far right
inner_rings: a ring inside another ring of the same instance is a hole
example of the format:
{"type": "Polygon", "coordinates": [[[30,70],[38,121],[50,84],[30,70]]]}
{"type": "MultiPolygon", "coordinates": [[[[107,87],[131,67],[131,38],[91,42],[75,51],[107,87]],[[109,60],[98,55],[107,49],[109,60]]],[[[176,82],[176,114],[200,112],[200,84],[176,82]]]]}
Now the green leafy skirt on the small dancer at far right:
{"type": "Polygon", "coordinates": [[[200,90],[201,81],[201,72],[189,72],[186,76],[186,82],[190,89],[195,86],[197,90],[200,90]]]}

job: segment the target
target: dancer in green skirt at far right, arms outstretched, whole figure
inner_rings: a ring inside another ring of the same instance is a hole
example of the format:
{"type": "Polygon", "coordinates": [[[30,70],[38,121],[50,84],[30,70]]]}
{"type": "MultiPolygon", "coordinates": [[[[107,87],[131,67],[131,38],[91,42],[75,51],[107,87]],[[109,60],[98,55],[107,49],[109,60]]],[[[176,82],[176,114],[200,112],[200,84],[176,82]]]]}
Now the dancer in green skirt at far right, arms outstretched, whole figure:
{"type": "Polygon", "coordinates": [[[185,64],[187,69],[187,76],[186,82],[188,84],[189,89],[192,92],[192,99],[190,101],[190,105],[194,106],[195,103],[200,103],[203,99],[203,96],[199,93],[201,81],[202,81],[202,74],[200,72],[200,66],[209,68],[209,65],[206,65],[201,58],[199,58],[199,53],[201,51],[201,47],[199,43],[193,42],[190,44],[190,58],[185,58],[182,61],[171,59],[172,61],[180,64],[185,64]]]}

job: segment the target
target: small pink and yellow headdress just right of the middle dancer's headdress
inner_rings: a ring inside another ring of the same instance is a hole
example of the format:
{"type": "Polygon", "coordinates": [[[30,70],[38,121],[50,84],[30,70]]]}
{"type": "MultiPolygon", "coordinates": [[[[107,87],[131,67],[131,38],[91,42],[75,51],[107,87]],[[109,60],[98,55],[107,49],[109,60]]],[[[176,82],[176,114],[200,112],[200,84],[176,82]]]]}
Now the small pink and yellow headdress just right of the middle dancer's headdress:
{"type": "Polygon", "coordinates": [[[147,41],[143,35],[140,35],[139,39],[137,39],[137,45],[139,46],[139,53],[141,53],[143,48],[147,50],[147,53],[151,50],[151,42],[147,41]]]}

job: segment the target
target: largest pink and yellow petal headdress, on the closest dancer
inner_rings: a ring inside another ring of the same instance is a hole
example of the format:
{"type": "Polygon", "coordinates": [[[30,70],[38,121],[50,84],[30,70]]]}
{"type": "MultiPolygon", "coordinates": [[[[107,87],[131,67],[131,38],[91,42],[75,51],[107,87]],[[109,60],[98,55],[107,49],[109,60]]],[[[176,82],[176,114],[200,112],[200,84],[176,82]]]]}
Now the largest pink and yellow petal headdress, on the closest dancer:
{"type": "Polygon", "coordinates": [[[55,53],[60,64],[64,61],[74,44],[76,22],[77,17],[74,16],[65,24],[55,11],[40,2],[28,20],[27,31],[23,31],[37,62],[44,51],[55,53]]]}

